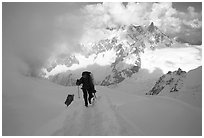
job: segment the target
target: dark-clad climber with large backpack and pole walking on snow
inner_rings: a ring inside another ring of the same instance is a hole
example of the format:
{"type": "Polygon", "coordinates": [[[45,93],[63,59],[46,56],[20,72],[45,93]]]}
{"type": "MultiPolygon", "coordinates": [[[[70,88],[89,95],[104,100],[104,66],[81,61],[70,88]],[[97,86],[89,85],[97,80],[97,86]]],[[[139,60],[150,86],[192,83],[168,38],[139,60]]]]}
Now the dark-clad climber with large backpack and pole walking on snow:
{"type": "Polygon", "coordinates": [[[91,99],[94,97],[96,92],[91,72],[88,71],[82,72],[82,77],[80,79],[77,79],[76,81],[76,85],[79,86],[80,84],[82,84],[81,89],[83,91],[85,106],[88,107],[88,102],[89,104],[91,104],[91,99]]]}

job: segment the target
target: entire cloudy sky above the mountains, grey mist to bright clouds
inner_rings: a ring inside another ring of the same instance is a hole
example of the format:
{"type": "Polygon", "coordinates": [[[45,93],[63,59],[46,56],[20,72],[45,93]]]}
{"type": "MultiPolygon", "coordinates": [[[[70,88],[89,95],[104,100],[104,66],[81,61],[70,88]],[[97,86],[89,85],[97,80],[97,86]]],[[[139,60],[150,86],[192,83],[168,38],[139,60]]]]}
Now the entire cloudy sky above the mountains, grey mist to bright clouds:
{"type": "Polygon", "coordinates": [[[3,2],[3,63],[15,55],[35,76],[48,59],[81,52],[79,44],[105,37],[107,26],[151,22],[179,41],[202,43],[202,3],[3,2]]]}

